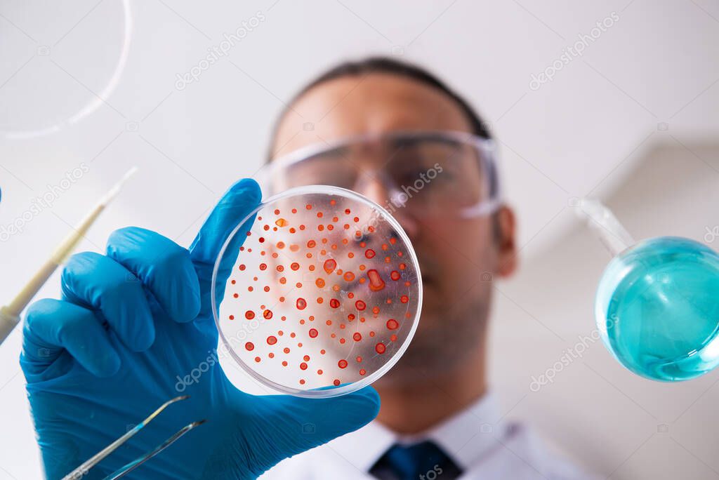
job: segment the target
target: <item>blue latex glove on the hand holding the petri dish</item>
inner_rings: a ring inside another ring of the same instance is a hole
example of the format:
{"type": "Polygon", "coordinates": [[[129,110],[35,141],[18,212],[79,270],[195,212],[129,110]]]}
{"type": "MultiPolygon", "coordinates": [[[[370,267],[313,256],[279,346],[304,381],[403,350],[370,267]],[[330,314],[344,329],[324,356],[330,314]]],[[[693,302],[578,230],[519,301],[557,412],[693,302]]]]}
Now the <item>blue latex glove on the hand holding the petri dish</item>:
{"type": "MultiPolygon", "coordinates": [[[[29,307],[20,364],[48,478],[67,474],[180,394],[191,398],[170,405],[83,478],[102,478],[206,418],[129,477],[254,479],[377,415],[370,387],[324,400],[252,396],[214,361],[212,269],[229,232],[260,197],[254,181],[236,183],[189,250],[145,229],[116,231],[105,256],[70,259],[63,300],[29,307]],[[181,382],[205,368],[197,382],[181,382]]],[[[233,260],[221,266],[221,285],[233,260]]]]}

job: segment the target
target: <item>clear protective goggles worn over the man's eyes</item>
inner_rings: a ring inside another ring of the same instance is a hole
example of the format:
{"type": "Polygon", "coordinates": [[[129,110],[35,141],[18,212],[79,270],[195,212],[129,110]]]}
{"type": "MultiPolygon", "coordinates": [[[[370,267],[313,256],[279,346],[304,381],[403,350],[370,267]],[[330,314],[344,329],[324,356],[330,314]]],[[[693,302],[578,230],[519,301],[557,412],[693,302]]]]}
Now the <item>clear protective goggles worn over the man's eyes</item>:
{"type": "MultiPolygon", "coordinates": [[[[462,131],[393,131],[312,144],[273,160],[265,194],[331,185],[357,193],[382,188],[383,205],[416,217],[475,218],[500,205],[495,142],[462,131]]],[[[376,200],[375,200],[376,201],[376,200]]]]}

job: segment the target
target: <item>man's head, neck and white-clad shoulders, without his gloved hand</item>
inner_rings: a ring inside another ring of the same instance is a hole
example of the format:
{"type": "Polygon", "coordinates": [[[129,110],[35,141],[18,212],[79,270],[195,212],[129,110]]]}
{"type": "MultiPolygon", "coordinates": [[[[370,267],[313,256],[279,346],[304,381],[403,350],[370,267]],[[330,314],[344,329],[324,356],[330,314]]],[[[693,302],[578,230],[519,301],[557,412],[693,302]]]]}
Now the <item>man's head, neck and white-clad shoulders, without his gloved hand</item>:
{"type": "Polygon", "coordinates": [[[383,58],[329,70],[280,116],[273,157],[315,143],[336,149],[348,139],[352,147],[322,152],[320,165],[294,162],[295,182],[350,188],[394,211],[416,249],[424,298],[409,349],[374,384],[382,399],[377,419],[280,463],[268,479],[585,478],[543,451],[525,427],[505,423],[488,392],[491,280],[517,264],[515,218],[499,202],[494,154],[482,149],[489,138],[475,111],[434,76],[383,58]],[[299,115],[321,121],[302,131],[299,115]],[[385,148],[377,146],[381,139],[385,148]],[[403,164],[436,162],[443,171],[434,180],[406,188],[422,169],[406,175],[403,164]]]}

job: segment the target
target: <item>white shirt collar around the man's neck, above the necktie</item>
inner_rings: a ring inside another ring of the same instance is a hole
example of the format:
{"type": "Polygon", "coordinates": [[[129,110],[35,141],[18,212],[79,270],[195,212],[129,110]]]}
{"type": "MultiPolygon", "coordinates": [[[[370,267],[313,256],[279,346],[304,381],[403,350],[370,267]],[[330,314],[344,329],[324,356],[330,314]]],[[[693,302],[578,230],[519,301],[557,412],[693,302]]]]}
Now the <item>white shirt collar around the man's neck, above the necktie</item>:
{"type": "Polygon", "coordinates": [[[431,440],[452,458],[457,466],[468,469],[490,448],[496,446],[495,436],[500,434],[503,428],[494,396],[485,394],[425,433],[398,435],[375,420],[357,431],[332,440],[327,446],[357,469],[370,471],[395,443],[410,444],[431,440]]]}

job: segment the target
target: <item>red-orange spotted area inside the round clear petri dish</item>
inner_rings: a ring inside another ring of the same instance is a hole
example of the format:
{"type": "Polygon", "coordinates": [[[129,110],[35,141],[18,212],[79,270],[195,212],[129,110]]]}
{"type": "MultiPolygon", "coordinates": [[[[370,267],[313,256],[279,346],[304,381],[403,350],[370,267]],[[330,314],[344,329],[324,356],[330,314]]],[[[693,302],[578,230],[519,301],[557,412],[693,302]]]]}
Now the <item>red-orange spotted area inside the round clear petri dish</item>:
{"type": "Polygon", "coordinates": [[[402,241],[377,236],[382,228],[367,226],[362,212],[343,202],[263,211],[243,234],[242,263],[227,285],[234,311],[223,313],[223,322],[244,323],[249,334],[242,338],[255,341],[244,350],[257,356],[244,358],[258,372],[280,364],[307,389],[372,374],[383,363],[377,356],[390,359],[406,339],[401,319],[416,311],[416,272],[407,271],[402,241]],[[252,338],[255,330],[260,336],[252,338]]]}

